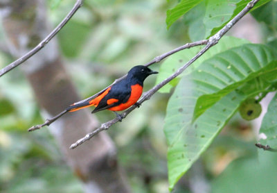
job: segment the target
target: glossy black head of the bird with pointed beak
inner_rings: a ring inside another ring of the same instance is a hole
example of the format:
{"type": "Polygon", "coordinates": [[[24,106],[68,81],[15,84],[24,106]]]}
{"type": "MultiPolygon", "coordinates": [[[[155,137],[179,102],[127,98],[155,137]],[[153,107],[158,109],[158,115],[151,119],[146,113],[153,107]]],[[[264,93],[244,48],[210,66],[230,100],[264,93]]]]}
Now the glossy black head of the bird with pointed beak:
{"type": "Polygon", "coordinates": [[[158,74],[158,72],[152,71],[150,68],[139,65],[132,67],[127,74],[127,78],[137,80],[139,83],[143,84],[145,78],[151,74],[158,74]]]}

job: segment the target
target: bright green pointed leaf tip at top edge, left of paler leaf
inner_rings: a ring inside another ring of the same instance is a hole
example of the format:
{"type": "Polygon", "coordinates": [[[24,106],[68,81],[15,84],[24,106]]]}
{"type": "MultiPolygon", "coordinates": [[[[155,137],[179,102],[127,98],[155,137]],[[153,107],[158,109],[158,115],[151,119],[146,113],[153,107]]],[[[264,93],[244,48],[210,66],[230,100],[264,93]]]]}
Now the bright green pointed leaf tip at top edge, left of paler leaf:
{"type": "Polygon", "coordinates": [[[197,6],[198,3],[200,3],[203,0],[181,0],[180,3],[175,6],[175,8],[172,8],[171,10],[168,10],[166,12],[166,24],[168,25],[168,28],[176,22],[179,17],[186,14],[188,10],[191,8],[197,6]]]}

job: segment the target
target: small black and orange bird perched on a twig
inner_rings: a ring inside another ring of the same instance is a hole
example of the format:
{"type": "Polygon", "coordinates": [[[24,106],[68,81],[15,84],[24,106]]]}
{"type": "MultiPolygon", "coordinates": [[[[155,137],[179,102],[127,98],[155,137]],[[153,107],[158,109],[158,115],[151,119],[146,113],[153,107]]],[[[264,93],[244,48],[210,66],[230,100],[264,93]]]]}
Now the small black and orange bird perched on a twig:
{"type": "Polygon", "coordinates": [[[82,108],[89,106],[96,106],[91,112],[98,112],[100,110],[111,110],[116,113],[118,119],[122,119],[116,111],[125,110],[130,106],[140,106],[136,101],[139,100],[143,93],[143,81],[151,74],[157,74],[158,72],[152,71],[150,68],[143,65],[132,67],[129,70],[127,77],[118,81],[114,85],[107,87],[98,97],[89,101],[81,101],[73,103],[66,108],[67,112],[74,112],[82,108]]]}

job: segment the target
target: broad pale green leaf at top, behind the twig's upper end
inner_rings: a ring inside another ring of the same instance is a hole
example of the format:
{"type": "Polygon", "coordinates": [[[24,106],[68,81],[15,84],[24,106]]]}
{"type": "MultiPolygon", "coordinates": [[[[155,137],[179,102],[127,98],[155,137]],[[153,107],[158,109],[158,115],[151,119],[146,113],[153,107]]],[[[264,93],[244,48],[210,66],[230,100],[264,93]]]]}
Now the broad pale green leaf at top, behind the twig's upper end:
{"type": "MultiPolygon", "coordinates": [[[[189,10],[184,23],[188,26],[188,35],[192,41],[202,40],[214,35],[249,3],[250,0],[205,0],[189,10]]],[[[270,0],[259,1],[254,8],[264,5],[270,0]]],[[[274,11],[273,11],[274,12],[274,11]]],[[[274,15],[274,13],[273,13],[274,15]]]]}

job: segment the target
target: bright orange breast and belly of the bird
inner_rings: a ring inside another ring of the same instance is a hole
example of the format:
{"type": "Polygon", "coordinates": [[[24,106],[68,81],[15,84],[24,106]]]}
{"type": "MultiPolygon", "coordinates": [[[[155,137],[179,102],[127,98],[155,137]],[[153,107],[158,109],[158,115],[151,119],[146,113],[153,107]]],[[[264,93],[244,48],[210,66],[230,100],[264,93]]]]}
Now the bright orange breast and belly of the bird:
{"type": "Polygon", "coordinates": [[[143,87],[139,84],[136,84],[131,86],[131,90],[132,90],[131,95],[126,103],[122,103],[119,106],[109,108],[109,110],[120,111],[120,110],[125,110],[130,106],[133,106],[134,103],[136,103],[136,101],[139,100],[139,97],[141,97],[141,94],[143,93],[143,87]]]}

